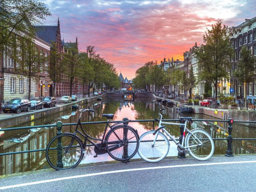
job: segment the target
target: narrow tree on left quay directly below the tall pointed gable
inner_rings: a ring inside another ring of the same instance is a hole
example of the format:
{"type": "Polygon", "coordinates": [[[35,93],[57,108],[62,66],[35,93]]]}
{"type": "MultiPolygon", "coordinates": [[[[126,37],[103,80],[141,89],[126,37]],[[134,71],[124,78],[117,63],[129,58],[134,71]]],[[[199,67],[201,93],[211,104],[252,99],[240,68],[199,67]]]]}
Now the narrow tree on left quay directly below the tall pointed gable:
{"type": "MultiPolygon", "coordinates": [[[[62,53],[58,52],[57,44],[52,42],[51,54],[49,56],[50,66],[49,66],[49,74],[50,79],[56,83],[61,82],[61,75],[63,74],[63,66],[61,63],[62,53]]],[[[53,90],[53,96],[55,96],[55,86],[53,90]]]]}

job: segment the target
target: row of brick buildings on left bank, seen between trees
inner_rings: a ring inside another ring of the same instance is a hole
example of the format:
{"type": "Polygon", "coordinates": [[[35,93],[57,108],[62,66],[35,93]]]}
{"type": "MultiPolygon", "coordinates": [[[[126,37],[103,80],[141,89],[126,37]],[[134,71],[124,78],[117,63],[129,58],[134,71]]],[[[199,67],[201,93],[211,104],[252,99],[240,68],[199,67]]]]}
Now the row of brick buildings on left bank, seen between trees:
{"type": "MultiPolygon", "coordinates": [[[[48,57],[51,54],[53,42],[57,44],[59,53],[67,53],[68,46],[75,42],[65,42],[61,40],[60,20],[58,19],[56,26],[34,26],[34,43],[38,49],[40,56],[48,57]]],[[[69,80],[65,75],[61,82],[54,82],[49,78],[49,60],[39,63],[39,78],[35,78],[31,82],[31,99],[38,99],[45,96],[61,97],[69,95],[69,80]],[[55,89],[54,89],[55,86],[55,89]],[[55,93],[53,93],[55,90],[55,93]]],[[[28,78],[18,74],[14,69],[16,67],[15,60],[8,56],[5,52],[0,54],[0,100],[2,103],[13,98],[28,98],[28,78]]],[[[73,86],[73,94],[82,94],[82,85],[77,81],[73,86]]]]}

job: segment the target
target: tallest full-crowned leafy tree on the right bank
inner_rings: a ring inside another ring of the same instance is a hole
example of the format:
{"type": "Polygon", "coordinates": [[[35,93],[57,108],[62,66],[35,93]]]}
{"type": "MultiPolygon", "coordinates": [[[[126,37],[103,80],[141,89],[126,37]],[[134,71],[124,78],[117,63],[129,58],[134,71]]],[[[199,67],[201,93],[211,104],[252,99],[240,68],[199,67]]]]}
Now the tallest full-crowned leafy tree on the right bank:
{"type": "Polygon", "coordinates": [[[230,57],[233,53],[229,44],[228,27],[218,21],[212,25],[212,29],[207,29],[203,35],[202,45],[195,49],[195,57],[198,60],[199,79],[209,80],[215,87],[215,98],[217,98],[218,81],[229,79],[227,69],[231,67],[230,57]]]}

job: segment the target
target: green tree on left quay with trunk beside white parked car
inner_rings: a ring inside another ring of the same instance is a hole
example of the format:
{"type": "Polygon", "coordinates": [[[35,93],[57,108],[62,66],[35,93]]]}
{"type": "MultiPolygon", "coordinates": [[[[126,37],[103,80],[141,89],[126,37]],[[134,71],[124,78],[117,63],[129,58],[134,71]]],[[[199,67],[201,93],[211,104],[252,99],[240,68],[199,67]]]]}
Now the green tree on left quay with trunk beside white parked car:
{"type": "Polygon", "coordinates": [[[72,95],[72,87],[76,83],[75,77],[78,76],[78,71],[81,68],[81,58],[78,54],[78,45],[76,43],[68,43],[67,53],[63,54],[61,60],[63,65],[64,74],[69,79],[69,96],[72,95]]]}

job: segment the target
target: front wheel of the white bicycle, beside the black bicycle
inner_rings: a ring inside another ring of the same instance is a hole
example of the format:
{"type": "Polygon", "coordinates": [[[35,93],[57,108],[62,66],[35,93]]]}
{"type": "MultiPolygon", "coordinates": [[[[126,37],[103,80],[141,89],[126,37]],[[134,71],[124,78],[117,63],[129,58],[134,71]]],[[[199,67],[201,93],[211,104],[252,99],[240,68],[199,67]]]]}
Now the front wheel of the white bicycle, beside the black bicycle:
{"type": "Polygon", "coordinates": [[[138,150],[141,158],[150,163],[161,161],[169,152],[168,138],[162,132],[157,132],[155,135],[154,132],[148,131],[141,135],[138,150]]]}

